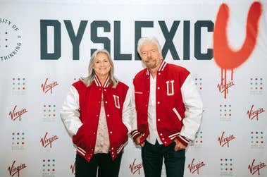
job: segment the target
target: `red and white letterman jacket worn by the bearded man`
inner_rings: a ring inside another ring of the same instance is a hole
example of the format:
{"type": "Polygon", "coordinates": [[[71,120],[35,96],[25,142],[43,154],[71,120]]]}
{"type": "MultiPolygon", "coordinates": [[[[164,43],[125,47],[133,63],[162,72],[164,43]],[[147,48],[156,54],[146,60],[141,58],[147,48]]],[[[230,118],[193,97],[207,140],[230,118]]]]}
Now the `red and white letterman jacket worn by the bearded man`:
{"type": "MultiPolygon", "coordinates": [[[[132,138],[141,135],[141,143],[149,135],[148,105],[150,73],[147,68],[135,75],[135,109],[132,138]]],[[[191,74],[185,68],[166,61],[156,73],[156,129],[163,145],[175,138],[185,146],[194,140],[202,116],[202,102],[191,74]]]]}

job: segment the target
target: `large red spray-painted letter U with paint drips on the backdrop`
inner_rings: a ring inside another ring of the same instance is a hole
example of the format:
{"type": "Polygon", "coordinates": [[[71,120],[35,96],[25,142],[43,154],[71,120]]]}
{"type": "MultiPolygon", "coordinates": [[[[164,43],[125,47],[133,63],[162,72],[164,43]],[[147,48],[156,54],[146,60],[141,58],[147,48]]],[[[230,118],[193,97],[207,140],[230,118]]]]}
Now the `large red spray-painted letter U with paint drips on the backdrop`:
{"type": "MultiPolygon", "coordinates": [[[[247,16],[246,38],[239,50],[231,49],[228,44],[227,24],[229,18],[229,8],[222,4],[219,8],[214,32],[213,32],[213,51],[216,64],[221,67],[221,85],[227,87],[226,71],[231,71],[231,81],[233,80],[233,69],[242,65],[252,54],[256,46],[256,39],[259,34],[259,18],[262,8],[260,2],[254,2],[249,8],[247,16]]],[[[224,98],[228,89],[224,90],[224,98]]]]}

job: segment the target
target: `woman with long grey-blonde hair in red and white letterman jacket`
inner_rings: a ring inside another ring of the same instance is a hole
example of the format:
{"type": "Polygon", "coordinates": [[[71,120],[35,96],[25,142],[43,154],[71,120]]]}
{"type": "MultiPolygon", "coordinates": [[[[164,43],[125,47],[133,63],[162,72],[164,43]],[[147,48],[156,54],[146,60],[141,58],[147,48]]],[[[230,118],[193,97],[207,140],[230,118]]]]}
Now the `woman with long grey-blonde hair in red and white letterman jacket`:
{"type": "Polygon", "coordinates": [[[114,77],[105,49],[92,54],[88,73],[70,87],[61,110],[77,149],[75,177],[118,176],[130,133],[129,87],[114,77]]]}

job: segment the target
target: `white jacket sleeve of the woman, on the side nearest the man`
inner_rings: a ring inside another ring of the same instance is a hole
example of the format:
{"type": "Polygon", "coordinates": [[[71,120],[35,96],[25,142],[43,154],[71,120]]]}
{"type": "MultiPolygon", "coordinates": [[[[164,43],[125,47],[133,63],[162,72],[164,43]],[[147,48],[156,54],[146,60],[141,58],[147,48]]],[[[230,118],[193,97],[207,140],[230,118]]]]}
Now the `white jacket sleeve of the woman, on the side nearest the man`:
{"type": "Polygon", "coordinates": [[[132,116],[133,111],[135,111],[131,96],[131,90],[129,88],[123,103],[123,123],[128,128],[128,133],[132,131],[132,116]]]}

